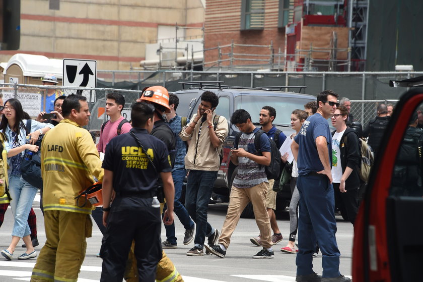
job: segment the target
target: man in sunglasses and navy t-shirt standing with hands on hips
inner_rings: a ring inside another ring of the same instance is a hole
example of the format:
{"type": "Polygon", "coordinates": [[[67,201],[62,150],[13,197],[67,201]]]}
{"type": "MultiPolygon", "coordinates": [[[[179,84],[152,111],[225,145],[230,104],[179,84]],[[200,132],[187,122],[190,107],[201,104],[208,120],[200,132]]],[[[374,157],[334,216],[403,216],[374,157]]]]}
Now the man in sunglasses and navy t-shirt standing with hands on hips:
{"type": "Polygon", "coordinates": [[[297,282],[349,282],[339,273],[336,244],[335,200],[332,187],[332,136],[327,119],[333,116],[338,94],[325,90],[317,95],[318,109],[295,136],[291,149],[298,164],[300,193],[298,219],[297,282]],[[316,240],[322,251],[322,276],[313,271],[316,240]]]}

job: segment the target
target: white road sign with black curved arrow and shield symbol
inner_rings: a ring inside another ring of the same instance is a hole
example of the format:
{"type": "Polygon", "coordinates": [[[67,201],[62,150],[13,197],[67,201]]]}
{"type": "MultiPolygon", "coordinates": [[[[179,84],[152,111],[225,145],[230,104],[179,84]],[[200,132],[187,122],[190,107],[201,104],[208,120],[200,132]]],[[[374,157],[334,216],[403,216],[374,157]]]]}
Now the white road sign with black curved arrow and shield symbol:
{"type": "MultiPolygon", "coordinates": [[[[96,85],[97,61],[63,59],[63,86],[95,88],[96,85]]],[[[84,90],[82,94],[94,102],[95,93],[93,92],[84,90]]]]}

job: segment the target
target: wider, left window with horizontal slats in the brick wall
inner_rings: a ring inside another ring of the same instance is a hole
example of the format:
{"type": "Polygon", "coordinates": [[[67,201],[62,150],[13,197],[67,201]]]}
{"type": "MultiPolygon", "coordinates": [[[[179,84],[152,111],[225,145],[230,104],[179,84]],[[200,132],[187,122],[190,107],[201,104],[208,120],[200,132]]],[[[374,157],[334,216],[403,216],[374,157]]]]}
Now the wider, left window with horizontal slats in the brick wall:
{"type": "Polygon", "coordinates": [[[264,0],[242,0],[241,30],[264,28],[264,0]]]}

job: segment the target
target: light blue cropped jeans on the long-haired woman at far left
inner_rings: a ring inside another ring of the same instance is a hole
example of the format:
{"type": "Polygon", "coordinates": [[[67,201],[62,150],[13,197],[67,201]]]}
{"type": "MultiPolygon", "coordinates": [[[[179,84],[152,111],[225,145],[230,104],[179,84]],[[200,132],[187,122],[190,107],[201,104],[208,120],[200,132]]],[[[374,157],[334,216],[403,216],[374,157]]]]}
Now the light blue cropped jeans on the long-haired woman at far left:
{"type": "Polygon", "coordinates": [[[12,236],[23,238],[31,234],[28,215],[37,191],[36,187],[23,180],[20,175],[9,177],[9,192],[12,197],[10,206],[15,218],[12,236]]]}

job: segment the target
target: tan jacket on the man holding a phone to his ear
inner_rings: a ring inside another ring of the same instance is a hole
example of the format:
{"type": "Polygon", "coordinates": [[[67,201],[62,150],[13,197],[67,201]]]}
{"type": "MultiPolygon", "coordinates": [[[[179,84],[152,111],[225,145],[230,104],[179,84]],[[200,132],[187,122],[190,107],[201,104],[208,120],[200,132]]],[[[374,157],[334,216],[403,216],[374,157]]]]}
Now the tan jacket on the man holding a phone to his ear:
{"type": "MultiPolygon", "coordinates": [[[[185,129],[194,121],[197,114],[191,118],[191,122],[182,128],[179,136],[182,141],[191,139],[191,143],[188,147],[188,152],[185,155],[185,168],[187,170],[198,170],[198,171],[219,171],[220,157],[219,154],[222,151],[222,143],[228,136],[228,121],[225,117],[220,116],[218,125],[216,127],[216,136],[220,140],[220,145],[217,148],[213,147],[208,134],[207,122],[201,123],[201,119],[195,125],[191,135],[186,134],[185,129]],[[198,131],[201,132],[198,138],[198,131]]],[[[215,118],[216,113],[213,115],[215,118]]],[[[212,120],[213,120],[212,119],[212,120]]]]}

